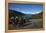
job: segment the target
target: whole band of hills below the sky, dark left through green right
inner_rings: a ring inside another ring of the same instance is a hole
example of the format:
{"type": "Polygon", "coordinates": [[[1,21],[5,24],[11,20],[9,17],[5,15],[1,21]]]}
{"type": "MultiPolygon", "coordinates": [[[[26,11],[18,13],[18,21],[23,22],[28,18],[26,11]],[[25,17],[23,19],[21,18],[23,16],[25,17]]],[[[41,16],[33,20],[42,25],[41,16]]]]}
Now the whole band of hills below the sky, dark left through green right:
{"type": "Polygon", "coordinates": [[[15,16],[15,15],[23,16],[23,18],[26,18],[26,19],[42,19],[43,18],[43,12],[41,12],[39,14],[24,14],[24,13],[18,12],[16,10],[9,9],[9,16],[11,17],[11,16],[15,16]]]}

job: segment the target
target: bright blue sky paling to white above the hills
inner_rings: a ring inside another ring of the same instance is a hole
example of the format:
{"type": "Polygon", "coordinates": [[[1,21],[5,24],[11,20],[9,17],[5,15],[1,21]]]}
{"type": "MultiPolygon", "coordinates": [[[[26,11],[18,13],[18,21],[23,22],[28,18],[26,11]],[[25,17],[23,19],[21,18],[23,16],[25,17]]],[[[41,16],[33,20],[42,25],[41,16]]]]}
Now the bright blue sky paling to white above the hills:
{"type": "Polygon", "coordinates": [[[11,10],[16,10],[24,14],[38,14],[42,12],[42,4],[16,4],[9,3],[8,8],[11,10]]]}

